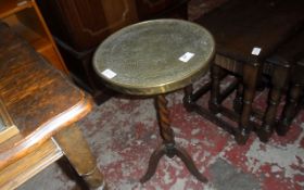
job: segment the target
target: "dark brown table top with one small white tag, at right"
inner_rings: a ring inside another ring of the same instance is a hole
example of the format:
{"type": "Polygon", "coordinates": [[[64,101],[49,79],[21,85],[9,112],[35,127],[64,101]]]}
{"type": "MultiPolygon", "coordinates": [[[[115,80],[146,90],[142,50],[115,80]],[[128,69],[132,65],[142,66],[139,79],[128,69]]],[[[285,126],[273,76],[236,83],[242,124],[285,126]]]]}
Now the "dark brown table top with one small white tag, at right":
{"type": "Polygon", "coordinates": [[[195,22],[214,35],[217,53],[248,61],[254,47],[267,58],[304,21],[302,0],[229,0],[195,22]]]}

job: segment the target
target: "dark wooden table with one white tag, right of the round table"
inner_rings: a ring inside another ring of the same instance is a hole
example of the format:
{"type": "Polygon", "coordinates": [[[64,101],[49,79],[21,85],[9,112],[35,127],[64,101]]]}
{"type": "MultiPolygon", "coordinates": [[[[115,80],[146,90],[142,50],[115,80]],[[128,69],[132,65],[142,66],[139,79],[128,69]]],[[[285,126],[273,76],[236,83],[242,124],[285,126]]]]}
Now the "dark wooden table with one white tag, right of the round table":
{"type": "MultiPolygon", "coordinates": [[[[192,107],[232,134],[240,144],[246,142],[254,128],[250,117],[253,115],[252,103],[259,84],[263,64],[302,26],[303,2],[301,0],[229,0],[195,21],[214,35],[216,56],[212,66],[212,84],[198,90],[197,94],[191,94],[193,90],[189,89],[188,97],[193,97],[191,103],[194,105],[202,94],[212,89],[208,110],[197,105],[192,107]],[[232,73],[233,76],[237,76],[239,86],[231,84],[229,88],[220,90],[223,71],[228,71],[229,74],[232,73]],[[235,101],[237,102],[235,112],[224,107],[221,102],[237,87],[239,87],[237,90],[239,99],[235,101]],[[216,115],[217,113],[237,122],[238,127],[220,119],[216,115]]],[[[277,76],[276,78],[280,79],[277,76]]],[[[270,89],[268,107],[265,115],[262,116],[263,124],[254,125],[257,126],[255,129],[263,141],[266,141],[271,134],[277,105],[280,101],[278,92],[282,88],[283,79],[273,81],[274,88],[270,89]]]]}

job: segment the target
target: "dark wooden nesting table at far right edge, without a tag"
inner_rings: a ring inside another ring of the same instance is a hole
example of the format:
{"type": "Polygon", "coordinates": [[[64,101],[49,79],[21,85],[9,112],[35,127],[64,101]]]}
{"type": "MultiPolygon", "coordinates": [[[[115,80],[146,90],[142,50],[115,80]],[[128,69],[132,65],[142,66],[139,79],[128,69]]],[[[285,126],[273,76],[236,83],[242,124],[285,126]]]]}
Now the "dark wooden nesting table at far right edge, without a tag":
{"type": "MultiPolygon", "coordinates": [[[[283,75],[287,75],[287,81],[283,84],[288,89],[286,94],[286,104],[276,124],[277,134],[284,136],[299,111],[301,110],[301,98],[303,98],[304,85],[304,27],[301,28],[288,42],[267,59],[268,65],[280,67],[286,74],[277,76],[277,80],[281,80],[283,75]]],[[[267,68],[271,71],[271,68],[267,68]]],[[[282,73],[280,72],[280,73],[282,73]]]]}

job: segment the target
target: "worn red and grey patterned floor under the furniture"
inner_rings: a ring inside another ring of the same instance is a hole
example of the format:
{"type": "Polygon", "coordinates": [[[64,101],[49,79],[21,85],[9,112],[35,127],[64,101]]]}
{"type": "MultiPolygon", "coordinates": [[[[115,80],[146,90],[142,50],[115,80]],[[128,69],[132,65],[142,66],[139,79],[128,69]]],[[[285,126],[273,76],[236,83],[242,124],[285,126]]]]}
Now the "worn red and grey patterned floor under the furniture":
{"type": "MultiPolygon", "coordinates": [[[[198,7],[189,8],[191,12],[206,10],[202,2],[192,1],[198,7]]],[[[206,80],[204,77],[195,86],[206,80]]],[[[198,181],[179,159],[162,157],[156,174],[141,185],[138,180],[147,169],[152,151],[161,143],[153,100],[116,97],[96,105],[78,123],[105,175],[109,189],[304,189],[303,112],[286,137],[274,135],[269,142],[262,143],[252,135],[245,145],[238,145],[226,131],[195,113],[188,113],[182,106],[182,96],[181,91],[167,96],[176,141],[188,150],[199,170],[210,181],[198,181]]],[[[257,106],[265,106],[265,92],[257,96],[257,106]]],[[[205,104],[206,101],[207,97],[204,97],[200,103],[205,104]]],[[[231,101],[232,97],[226,103],[231,101]]],[[[60,165],[65,165],[65,162],[60,165]]],[[[58,164],[52,164],[18,189],[68,190],[80,187],[58,164]]]]}

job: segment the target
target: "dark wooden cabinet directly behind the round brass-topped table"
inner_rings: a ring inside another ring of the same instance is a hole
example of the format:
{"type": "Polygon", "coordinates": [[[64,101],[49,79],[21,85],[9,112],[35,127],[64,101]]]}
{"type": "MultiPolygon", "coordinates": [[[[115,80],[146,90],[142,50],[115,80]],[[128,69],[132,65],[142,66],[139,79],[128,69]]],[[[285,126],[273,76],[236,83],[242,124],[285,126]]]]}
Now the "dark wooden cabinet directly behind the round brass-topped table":
{"type": "Polygon", "coordinates": [[[37,0],[68,69],[98,103],[107,90],[92,69],[97,46],[127,25],[156,17],[187,18],[188,0],[37,0]]]}

